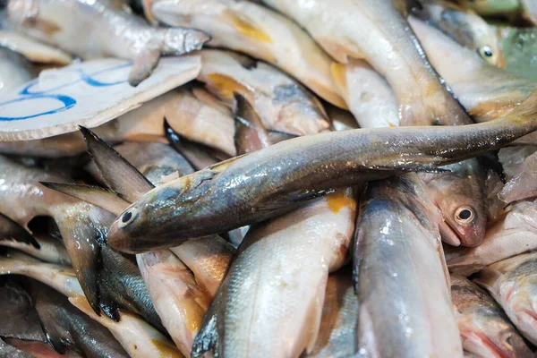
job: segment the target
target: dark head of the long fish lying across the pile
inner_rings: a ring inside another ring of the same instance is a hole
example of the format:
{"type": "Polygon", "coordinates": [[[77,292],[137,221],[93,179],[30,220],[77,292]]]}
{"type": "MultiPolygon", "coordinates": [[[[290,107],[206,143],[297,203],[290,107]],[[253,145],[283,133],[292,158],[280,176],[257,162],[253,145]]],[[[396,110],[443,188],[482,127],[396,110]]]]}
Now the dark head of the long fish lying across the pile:
{"type": "Polygon", "coordinates": [[[195,216],[192,203],[206,192],[200,191],[200,186],[204,187],[201,183],[199,175],[186,175],[145,193],[116,217],[107,243],[131,253],[171,246],[166,243],[175,236],[183,218],[195,216]]]}

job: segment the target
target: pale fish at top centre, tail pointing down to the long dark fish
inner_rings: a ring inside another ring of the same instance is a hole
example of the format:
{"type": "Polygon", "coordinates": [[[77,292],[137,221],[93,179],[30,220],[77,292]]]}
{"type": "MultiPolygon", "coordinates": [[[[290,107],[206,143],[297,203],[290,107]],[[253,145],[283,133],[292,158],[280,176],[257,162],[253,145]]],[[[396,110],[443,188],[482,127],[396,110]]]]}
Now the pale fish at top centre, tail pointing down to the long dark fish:
{"type": "Polygon", "coordinates": [[[467,122],[457,103],[423,55],[405,20],[403,1],[264,0],[306,29],[329,55],[346,64],[365,59],[396,93],[401,124],[467,122]]]}

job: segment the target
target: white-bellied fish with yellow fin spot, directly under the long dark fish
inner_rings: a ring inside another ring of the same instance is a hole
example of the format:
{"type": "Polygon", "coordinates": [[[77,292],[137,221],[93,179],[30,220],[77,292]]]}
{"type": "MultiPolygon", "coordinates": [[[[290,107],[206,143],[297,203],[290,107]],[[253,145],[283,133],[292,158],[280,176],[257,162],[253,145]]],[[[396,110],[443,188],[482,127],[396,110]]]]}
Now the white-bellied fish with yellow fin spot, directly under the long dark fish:
{"type": "Polygon", "coordinates": [[[345,263],[355,210],[353,192],[342,190],[252,227],[194,339],[192,357],[311,352],[328,272],[345,263]]]}

